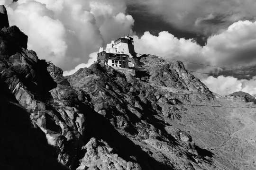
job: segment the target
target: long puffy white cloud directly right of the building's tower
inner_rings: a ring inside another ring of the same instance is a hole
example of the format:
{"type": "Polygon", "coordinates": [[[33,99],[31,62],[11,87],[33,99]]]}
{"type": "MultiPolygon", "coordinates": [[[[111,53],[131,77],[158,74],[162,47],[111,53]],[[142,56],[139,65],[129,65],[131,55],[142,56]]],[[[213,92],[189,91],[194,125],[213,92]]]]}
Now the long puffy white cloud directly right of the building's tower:
{"type": "MultiPolygon", "coordinates": [[[[172,59],[189,59],[194,62],[207,63],[202,55],[202,47],[192,39],[178,39],[166,31],[160,32],[158,36],[145,32],[140,38],[134,36],[135,51],[141,54],[154,54],[160,57],[172,59]]],[[[198,68],[198,65],[190,65],[189,68],[198,68]]]]}

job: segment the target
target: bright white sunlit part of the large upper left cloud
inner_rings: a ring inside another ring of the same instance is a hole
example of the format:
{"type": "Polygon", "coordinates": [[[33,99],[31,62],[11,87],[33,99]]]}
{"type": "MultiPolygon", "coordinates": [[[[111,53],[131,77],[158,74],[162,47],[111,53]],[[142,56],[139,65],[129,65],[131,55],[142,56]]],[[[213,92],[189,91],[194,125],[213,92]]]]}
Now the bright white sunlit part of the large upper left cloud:
{"type": "Polygon", "coordinates": [[[28,49],[37,51],[39,57],[56,63],[64,59],[67,50],[65,42],[66,30],[57,19],[53,19],[51,11],[36,1],[21,3],[14,10],[8,10],[11,24],[19,26],[28,38],[28,49]]]}

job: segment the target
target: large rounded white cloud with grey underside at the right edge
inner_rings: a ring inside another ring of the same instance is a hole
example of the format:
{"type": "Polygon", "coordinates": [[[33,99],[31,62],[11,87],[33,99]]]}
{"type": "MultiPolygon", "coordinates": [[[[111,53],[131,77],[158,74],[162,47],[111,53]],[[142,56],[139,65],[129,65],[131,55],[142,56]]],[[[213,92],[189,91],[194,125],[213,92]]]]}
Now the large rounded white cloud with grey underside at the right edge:
{"type": "Polygon", "coordinates": [[[256,22],[238,21],[208,38],[204,55],[212,63],[238,66],[256,64],[256,22]]]}

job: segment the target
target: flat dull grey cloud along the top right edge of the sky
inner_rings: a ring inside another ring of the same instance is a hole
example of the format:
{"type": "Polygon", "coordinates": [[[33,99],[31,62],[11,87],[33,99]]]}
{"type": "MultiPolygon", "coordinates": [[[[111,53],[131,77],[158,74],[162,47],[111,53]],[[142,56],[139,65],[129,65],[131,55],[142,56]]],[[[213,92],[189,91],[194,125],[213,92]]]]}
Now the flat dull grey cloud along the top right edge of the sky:
{"type": "Polygon", "coordinates": [[[128,4],[179,29],[207,35],[239,20],[256,18],[255,0],[128,0],[128,4]]]}

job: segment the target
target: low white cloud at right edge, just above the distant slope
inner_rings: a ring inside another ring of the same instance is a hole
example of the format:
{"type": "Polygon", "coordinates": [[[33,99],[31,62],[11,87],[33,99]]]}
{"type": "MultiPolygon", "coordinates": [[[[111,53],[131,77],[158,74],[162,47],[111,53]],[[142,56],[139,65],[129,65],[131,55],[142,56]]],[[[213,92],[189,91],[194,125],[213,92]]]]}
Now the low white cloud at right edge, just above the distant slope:
{"type": "Polygon", "coordinates": [[[256,81],[255,80],[238,80],[231,76],[209,76],[202,80],[208,88],[220,95],[229,95],[234,92],[243,91],[249,94],[256,94],[256,81]]]}

